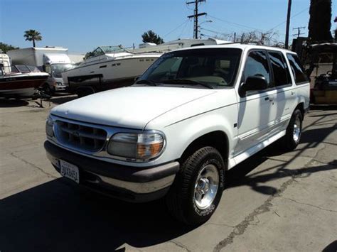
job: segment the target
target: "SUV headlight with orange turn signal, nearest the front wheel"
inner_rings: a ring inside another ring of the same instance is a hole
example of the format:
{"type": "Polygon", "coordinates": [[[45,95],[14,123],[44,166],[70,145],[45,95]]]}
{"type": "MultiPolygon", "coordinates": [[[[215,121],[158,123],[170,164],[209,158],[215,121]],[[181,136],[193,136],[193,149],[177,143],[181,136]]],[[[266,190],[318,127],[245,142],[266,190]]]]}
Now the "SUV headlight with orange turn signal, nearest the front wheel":
{"type": "Polygon", "coordinates": [[[160,133],[117,133],[110,138],[107,152],[120,158],[150,160],[161,154],[164,136],[160,133]]]}

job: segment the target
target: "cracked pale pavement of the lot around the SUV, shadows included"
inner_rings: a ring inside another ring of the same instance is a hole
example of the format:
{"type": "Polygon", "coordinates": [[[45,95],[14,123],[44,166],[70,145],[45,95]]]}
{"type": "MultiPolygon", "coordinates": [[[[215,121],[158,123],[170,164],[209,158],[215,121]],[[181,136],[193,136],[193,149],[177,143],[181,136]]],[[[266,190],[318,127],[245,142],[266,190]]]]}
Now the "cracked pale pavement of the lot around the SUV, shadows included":
{"type": "Polygon", "coordinates": [[[43,149],[45,108],[0,100],[0,251],[336,251],[337,107],[306,116],[299,147],[269,146],[228,172],[197,228],[161,202],[129,204],[60,178],[43,149]]]}

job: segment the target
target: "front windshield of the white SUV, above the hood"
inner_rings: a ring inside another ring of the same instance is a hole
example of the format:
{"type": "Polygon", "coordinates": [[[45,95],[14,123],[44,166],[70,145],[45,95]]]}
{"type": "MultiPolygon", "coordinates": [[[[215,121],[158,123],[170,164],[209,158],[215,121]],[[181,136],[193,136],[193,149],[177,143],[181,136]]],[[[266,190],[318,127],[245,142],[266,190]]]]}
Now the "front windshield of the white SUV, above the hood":
{"type": "Polygon", "coordinates": [[[151,80],[161,84],[200,83],[208,84],[211,88],[230,87],[235,82],[241,53],[242,50],[236,48],[205,48],[166,53],[146,70],[138,83],[151,80]]]}

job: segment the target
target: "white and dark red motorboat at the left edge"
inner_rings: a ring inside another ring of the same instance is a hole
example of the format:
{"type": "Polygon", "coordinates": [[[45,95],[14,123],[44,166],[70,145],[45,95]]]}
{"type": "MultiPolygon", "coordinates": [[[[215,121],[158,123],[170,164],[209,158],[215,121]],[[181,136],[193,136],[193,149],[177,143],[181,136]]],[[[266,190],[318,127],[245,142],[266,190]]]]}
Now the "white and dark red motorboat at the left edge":
{"type": "Polygon", "coordinates": [[[0,53],[0,97],[29,98],[49,75],[36,67],[11,65],[9,56],[0,53]]]}

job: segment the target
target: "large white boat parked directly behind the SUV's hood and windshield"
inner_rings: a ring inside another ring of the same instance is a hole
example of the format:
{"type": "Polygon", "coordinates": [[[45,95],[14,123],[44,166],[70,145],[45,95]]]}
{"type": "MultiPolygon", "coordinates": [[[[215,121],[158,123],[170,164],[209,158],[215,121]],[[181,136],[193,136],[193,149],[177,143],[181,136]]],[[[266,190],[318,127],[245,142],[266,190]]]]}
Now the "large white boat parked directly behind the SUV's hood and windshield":
{"type": "Polygon", "coordinates": [[[144,43],[139,48],[122,48],[121,45],[100,46],[77,67],[62,73],[63,82],[70,92],[87,89],[87,93],[124,87],[134,83],[163,53],[197,45],[218,45],[224,40],[179,39],[156,45],[144,43]],[[89,90],[89,91],[88,91],[89,90]]]}

